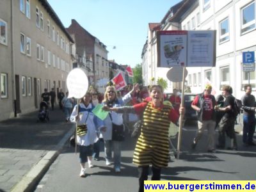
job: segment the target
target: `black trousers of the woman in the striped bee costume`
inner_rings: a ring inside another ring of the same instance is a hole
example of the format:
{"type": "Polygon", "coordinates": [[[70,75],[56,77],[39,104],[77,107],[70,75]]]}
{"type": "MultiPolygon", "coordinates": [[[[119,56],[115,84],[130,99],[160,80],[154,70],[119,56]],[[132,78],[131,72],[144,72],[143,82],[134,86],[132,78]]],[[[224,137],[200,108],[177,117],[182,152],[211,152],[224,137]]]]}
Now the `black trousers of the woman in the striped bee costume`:
{"type": "MultiPolygon", "coordinates": [[[[148,180],[148,168],[149,166],[139,166],[138,171],[139,171],[139,192],[144,191],[144,180],[148,180]]],[[[160,180],[161,179],[161,168],[156,168],[152,166],[152,177],[151,180],[160,180]]]]}

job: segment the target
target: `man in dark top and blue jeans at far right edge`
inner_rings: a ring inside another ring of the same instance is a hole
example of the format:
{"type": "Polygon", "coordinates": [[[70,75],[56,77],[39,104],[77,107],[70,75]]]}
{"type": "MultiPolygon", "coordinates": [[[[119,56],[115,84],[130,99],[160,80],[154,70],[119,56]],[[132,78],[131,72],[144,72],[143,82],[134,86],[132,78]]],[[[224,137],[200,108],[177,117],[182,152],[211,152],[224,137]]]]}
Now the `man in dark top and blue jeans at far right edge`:
{"type": "Polygon", "coordinates": [[[253,143],[253,134],[255,132],[256,118],[255,118],[255,97],[252,95],[252,86],[246,84],[244,86],[245,95],[242,97],[242,109],[244,109],[243,114],[243,143],[244,145],[252,145],[253,143]]]}

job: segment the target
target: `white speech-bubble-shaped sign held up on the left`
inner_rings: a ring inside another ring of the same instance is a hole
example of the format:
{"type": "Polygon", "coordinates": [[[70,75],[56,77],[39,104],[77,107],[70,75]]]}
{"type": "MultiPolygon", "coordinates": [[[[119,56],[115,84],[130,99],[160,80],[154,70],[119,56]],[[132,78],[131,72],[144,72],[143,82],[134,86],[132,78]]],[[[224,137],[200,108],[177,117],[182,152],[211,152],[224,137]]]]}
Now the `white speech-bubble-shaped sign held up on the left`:
{"type": "Polygon", "coordinates": [[[80,68],[74,68],[67,76],[68,98],[82,98],[88,90],[88,77],[80,68]]]}

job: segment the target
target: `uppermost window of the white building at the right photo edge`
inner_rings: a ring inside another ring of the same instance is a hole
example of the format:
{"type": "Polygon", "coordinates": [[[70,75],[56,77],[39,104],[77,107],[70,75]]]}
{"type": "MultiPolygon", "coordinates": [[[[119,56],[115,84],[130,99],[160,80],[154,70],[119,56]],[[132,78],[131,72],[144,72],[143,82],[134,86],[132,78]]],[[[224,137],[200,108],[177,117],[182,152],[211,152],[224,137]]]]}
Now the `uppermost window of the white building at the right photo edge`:
{"type": "Polygon", "coordinates": [[[241,34],[255,29],[255,1],[241,9],[241,34]]]}

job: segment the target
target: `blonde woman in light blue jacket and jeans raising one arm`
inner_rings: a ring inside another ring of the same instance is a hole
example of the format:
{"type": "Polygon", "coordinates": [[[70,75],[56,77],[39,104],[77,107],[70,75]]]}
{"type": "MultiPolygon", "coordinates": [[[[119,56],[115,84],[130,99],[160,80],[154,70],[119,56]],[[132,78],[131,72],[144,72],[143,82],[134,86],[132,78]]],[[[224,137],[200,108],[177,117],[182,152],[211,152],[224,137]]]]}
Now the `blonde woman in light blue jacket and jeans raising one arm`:
{"type": "MultiPolygon", "coordinates": [[[[107,86],[106,92],[104,93],[104,100],[102,101],[102,105],[106,105],[109,108],[124,106],[124,104],[131,100],[131,94],[137,88],[138,85],[134,86],[130,92],[122,97],[122,99],[118,99],[115,86],[107,86]]],[[[109,166],[111,164],[113,150],[114,169],[115,172],[120,172],[121,144],[123,140],[122,134],[124,134],[124,122],[122,114],[110,112],[103,122],[104,127],[106,127],[106,132],[101,133],[104,140],[106,165],[109,166]]]]}

